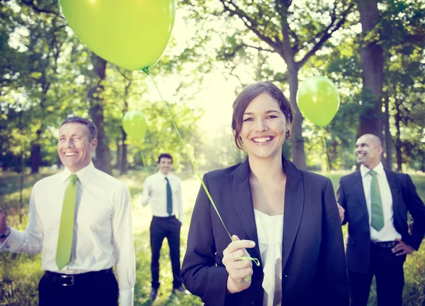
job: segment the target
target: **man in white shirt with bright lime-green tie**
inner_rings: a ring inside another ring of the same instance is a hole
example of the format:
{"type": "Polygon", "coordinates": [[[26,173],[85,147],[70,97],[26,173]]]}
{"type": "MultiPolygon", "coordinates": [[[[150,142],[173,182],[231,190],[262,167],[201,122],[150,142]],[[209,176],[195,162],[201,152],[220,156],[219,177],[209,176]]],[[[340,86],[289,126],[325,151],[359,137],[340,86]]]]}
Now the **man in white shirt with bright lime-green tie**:
{"type": "Polygon", "coordinates": [[[91,163],[97,142],[90,120],[64,120],[57,152],[65,169],[33,186],[25,232],[7,227],[0,209],[0,251],[42,253],[40,306],[117,306],[118,297],[133,305],[130,193],[91,163]]]}

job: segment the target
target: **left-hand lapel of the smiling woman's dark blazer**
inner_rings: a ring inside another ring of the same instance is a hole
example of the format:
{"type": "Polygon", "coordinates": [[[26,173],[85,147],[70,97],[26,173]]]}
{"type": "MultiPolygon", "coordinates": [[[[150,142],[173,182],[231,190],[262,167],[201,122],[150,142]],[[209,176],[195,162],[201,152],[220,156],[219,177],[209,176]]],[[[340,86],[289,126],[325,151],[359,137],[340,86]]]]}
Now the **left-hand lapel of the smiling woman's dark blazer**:
{"type": "Polygon", "coordinates": [[[236,206],[242,225],[244,225],[245,232],[248,234],[249,239],[255,242],[255,257],[259,259],[261,263],[259,237],[255,224],[254,203],[252,202],[251,184],[249,183],[248,159],[239,166],[234,174],[232,195],[233,203],[236,206]]]}

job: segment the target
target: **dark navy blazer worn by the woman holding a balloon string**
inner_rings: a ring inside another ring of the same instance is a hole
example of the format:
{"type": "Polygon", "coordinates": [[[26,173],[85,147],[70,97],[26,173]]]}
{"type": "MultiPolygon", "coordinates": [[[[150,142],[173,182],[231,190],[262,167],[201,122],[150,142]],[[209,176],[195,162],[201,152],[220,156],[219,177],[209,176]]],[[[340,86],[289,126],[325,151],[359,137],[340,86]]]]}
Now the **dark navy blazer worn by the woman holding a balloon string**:
{"type": "MultiPolygon", "coordinates": [[[[341,222],[331,181],[298,170],[283,157],[287,175],[282,245],[282,305],[348,305],[348,280],[341,222]]],[[[205,174],[203,181],[230,234],[259,241],[249,184],[248,159],[205,174]]],[[[263,266],[253,264],[251,286],[227,293],[223,250],[231,242],[203,188],[193,210],[183,260],[183,283],[206,306],[263,305],[263,266]]]]}

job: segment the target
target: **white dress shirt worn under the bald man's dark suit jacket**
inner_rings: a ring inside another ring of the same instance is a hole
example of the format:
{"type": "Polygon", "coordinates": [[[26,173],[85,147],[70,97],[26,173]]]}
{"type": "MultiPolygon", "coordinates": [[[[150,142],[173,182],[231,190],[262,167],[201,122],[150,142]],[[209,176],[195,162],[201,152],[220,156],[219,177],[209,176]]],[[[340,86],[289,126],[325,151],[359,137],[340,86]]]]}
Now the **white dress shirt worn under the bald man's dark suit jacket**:
{"type": "Polygon", "coordinates": [[[382,166],[382,163],[379,163],[372,170],[378,174],[376,177],[378,178],[378,186],[384,212],[384,227],[382,227],[382,229],[378,232],[371,225],[372,214],[370,211],[370,182],[372,181],[372,176],[369,174],[370,169],[363,166],[362,164],[360,166],[360,173],[361,180],[363,181],[363,191],[365,192],[366,205],[368,206],[370,240],[374,242],[390,242],[395,241],[397,238],[401,239],[402,235],[399,234],[394,227],[394,211],[392,209],[391,189],[390,185],[388,184],[384,166],[382,166]]]}

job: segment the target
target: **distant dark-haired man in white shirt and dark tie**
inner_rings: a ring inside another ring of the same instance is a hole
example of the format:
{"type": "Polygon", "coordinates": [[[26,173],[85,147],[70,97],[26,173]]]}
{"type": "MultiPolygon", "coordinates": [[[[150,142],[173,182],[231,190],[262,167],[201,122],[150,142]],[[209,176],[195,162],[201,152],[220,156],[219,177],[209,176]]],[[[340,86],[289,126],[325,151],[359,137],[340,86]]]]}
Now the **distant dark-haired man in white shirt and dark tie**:
{"type": "Polygon", "coordinates": [[[152,292],[150,300],[155,300],[159,288],[159,256],[162,242],[167,239],[170,247],[171,268],[173,270],[173,293],[175,290],[186,293],[180,275],[180,228],[183,223],[180,179],[170,174],[173,157],[163,153],[158,157],[157,174],[147,177],[143,184],[142,206],[150,203],[152,222],[150,241],[152,249],[152,292]],[[176,218],[176,213],[179,219],[176,218]]]}

